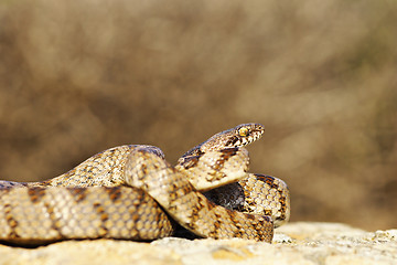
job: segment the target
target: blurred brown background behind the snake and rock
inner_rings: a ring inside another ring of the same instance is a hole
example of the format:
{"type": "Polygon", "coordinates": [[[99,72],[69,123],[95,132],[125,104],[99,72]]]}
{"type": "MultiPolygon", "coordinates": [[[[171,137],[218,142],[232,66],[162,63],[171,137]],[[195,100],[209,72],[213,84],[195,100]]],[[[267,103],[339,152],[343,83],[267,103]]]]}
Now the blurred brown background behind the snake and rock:
{"type": "Polygon", "coordinates": [[[0,1],[0,177],[260,123],[291,221],[397,227],[397,2],[0,1]]]}

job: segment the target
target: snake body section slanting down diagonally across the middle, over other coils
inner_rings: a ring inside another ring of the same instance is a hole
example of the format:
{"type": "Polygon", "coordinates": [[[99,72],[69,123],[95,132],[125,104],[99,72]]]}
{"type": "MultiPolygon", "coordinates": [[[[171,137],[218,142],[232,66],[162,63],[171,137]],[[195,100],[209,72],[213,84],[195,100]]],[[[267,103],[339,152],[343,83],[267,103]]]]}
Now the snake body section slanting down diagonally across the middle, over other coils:
{"type": "Polygon", "coordinates": [[[133,162],[127,162],[126,182],[144,189],[185,229],[203,237],[271,241],[270,218],[215,205],[196,191],[182,172],[152,153],[131,152],[129,159],[133,162]]]}

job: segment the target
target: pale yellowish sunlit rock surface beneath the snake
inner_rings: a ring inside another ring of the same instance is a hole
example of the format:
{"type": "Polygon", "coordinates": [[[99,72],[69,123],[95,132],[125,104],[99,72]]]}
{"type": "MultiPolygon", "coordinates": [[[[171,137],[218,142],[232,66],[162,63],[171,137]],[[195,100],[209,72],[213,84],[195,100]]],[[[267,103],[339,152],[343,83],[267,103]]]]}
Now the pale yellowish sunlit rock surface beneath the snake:
{"type": "Polygon", "coordinates": [[[0,264],[397,264],[397,230],[365,232],[337,223],[291,223],[272,244],[244,240],[151,243],[67,241],[37,248],[0,245],[0,264]]]}

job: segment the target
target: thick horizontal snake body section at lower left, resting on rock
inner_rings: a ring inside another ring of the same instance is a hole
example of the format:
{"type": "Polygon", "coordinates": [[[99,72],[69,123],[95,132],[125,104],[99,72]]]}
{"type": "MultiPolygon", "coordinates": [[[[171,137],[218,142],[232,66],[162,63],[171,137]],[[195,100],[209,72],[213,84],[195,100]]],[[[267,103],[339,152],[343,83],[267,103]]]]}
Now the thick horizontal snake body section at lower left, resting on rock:
{"type": "Polygon", "coordinates": [[[173,231],[159,204],[137,188],[11,189],[0,198],[0,239],[10,242],[153,240],[173,231]]]}

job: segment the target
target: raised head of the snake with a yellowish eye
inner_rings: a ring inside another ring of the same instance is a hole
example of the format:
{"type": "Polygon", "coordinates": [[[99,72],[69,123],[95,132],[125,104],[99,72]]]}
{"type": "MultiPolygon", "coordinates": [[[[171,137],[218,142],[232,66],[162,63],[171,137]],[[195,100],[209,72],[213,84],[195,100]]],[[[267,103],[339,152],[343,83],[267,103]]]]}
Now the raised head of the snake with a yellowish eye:
{"type": "Polygon", "coordinates": [[[225,148],[244,147],[259,139],[264,132],[265,127],[260,124],[242,124],[214,135],[201,145],[200,151],[206,152],[225,148]]]}

